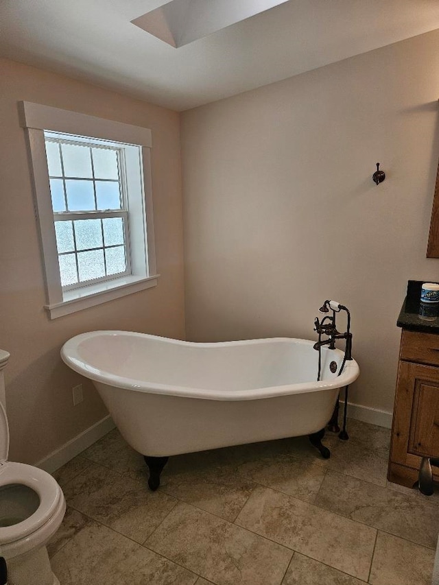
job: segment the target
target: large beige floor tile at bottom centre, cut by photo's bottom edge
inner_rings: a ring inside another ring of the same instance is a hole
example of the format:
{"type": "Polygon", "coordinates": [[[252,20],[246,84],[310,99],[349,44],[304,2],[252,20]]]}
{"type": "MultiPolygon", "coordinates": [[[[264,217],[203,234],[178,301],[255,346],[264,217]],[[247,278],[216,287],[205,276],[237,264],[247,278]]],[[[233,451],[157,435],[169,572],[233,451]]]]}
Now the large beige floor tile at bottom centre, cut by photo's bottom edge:
{"type": "Polygon", "coordinates": [[[292,557],[285,547],[186,503],[145,546],[217,585],[280,585],[292,557]]]}

